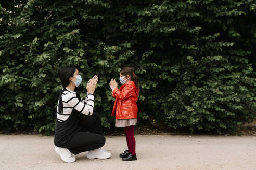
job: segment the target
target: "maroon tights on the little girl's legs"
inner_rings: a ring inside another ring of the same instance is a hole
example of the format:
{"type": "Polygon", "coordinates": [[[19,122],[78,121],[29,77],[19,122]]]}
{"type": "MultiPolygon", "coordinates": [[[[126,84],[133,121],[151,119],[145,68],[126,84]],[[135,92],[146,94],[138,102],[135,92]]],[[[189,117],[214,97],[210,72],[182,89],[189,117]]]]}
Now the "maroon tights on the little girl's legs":
{"type": "Polygon", "coordinates": [[[127,141],[128,151],[135,155],[136,141],[134,138],[134,125],[124,127],[124,134],[127,141]]]}

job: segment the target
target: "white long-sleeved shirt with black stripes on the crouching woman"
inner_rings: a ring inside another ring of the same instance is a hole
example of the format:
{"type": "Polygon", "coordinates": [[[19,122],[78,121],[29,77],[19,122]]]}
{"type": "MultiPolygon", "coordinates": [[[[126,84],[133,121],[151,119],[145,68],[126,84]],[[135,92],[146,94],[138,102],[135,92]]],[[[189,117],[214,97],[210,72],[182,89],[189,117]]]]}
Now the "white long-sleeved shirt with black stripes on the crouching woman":
{"type": "Polygon", "coordinates": [[[92,115],[94,109],[94,95],[87,92],[85,100],[80,101],[76,92],[65,90],[62,94],[63,112],[59,113],[59,101],[57,105],[57,120],[65,121],[71,115],[73,109],[85,115],[92,115]]]}

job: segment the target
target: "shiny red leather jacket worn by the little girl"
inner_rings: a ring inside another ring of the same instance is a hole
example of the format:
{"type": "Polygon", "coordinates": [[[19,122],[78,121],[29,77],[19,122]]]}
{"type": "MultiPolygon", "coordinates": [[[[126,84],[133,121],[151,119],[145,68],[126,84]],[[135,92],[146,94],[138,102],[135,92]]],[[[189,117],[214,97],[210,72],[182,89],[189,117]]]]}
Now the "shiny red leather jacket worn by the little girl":
{"type": "Polygon", "coordinates": [[[120,89],[114,88],[112,96],[116,99],[111,116],[116,119],[137,118],[138,107],[138,90],[134,81],[123,84],[120,89]]]}

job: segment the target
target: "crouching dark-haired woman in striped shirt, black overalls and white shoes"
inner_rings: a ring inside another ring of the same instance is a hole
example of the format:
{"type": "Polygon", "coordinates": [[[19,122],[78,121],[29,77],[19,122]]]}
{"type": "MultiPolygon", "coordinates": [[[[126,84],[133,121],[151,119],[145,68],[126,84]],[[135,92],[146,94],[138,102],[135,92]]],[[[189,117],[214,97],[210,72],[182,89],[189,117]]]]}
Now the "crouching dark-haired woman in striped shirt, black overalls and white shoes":
{"type": "Polygon", "coordinates": [[[56,112],[56,128],[54,134],[55,151],[66,163],[75,161],[72,154],[88,151],[89,159],[107,159],[111,156],[103,147],[105,137],[101,129],[100,115],[93,112],[94,90],[98,76],[94,76],[87,83],[87,97],[80,98],[76,87],[82,82],[78,69],[74,66],[62,68],[59,78],[63,88],[58,92],[56,112]],[[85,123],[81,115],[88,115],[85,123]],[[89,132],[88,132],[89,131],[89,132]]]}

